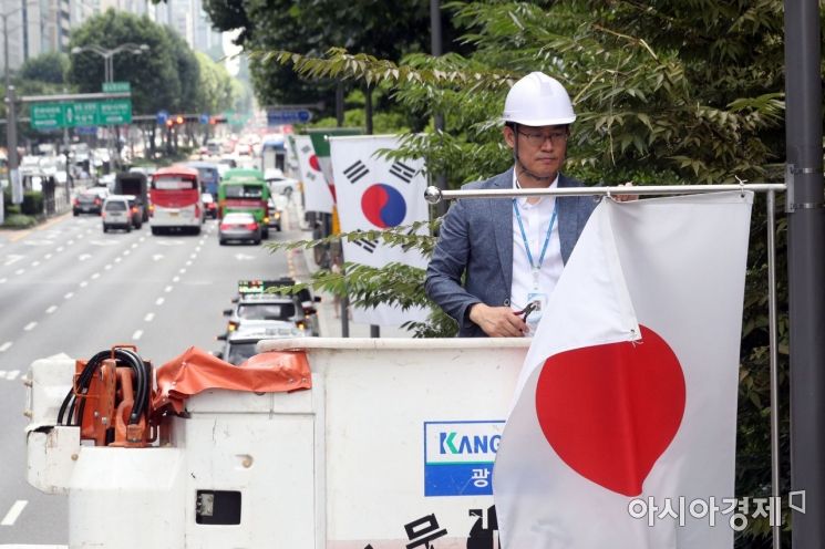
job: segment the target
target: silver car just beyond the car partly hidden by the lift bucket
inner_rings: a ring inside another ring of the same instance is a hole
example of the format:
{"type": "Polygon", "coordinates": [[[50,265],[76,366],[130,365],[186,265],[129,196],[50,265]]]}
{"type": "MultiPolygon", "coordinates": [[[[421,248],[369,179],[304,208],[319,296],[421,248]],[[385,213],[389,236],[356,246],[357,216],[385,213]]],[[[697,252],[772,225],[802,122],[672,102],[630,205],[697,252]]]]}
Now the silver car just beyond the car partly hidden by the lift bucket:
{"type": "Polygon", "coordinates": [[[271,336],[312,336],[318,335],[318,319],[314,301],[310,291],[305,289],[295,294],[272,293],[270,290],[292,286],[291,278],[277,280],[239,280],[235,307],[226,309],[228,317],[226,331],[257,331],[271,336]],[[290,331],[280,330],[286,328],[290,331]],[[275,331],[272,331],[275,330],[275,331]]]}

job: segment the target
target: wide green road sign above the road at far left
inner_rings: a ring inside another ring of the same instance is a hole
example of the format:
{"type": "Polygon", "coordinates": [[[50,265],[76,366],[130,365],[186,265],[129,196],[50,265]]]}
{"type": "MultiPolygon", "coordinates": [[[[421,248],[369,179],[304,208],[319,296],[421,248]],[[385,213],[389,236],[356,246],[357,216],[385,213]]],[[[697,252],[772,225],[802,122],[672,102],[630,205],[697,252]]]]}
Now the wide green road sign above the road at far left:
{"type": "Polygon", "coordinates": [[[132,100],[35,103],[31,105],[30,114],[34,130],[128,124],[132,122],[132,100]]]}

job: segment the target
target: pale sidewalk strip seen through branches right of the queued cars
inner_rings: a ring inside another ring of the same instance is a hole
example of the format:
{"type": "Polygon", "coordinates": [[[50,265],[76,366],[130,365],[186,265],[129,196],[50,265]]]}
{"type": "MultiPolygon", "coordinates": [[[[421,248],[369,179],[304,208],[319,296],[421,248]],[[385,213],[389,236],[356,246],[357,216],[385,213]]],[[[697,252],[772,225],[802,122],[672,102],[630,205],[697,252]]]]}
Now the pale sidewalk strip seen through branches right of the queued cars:
{"type": "MultiPolygon", "coordinates": [[[[293,200],[291,207],[287,210],[287,222],[285,227],[291,230],[301,230],[301,239],[310,240],[312,238],[312,230],[303,227],[303,211],[300,204],[293,200]]],[[[312,250],[295,249],[288,251],[288,263],[289,270],[296,280],[309,280],[313,272],[319,270],[312,258],[312,250]]],[[[334,299],[331,293],[324,291],[316,292],[316,296],[321,298],[320,303],[316,303],[318,309],[318,323],[321,338],[341,338],[342,335],[342,321],[340,318],[336,318],[336,313],[340,317],[340,310],[336,311],[334,299]]],[[[370,338],[370,325],[369,324],[357,324],[349,321],[350,338],[370,338]]],[[[380,327],[381,338],[412,338],[412,332],[402,330],[398,327],[380,327]]]]}

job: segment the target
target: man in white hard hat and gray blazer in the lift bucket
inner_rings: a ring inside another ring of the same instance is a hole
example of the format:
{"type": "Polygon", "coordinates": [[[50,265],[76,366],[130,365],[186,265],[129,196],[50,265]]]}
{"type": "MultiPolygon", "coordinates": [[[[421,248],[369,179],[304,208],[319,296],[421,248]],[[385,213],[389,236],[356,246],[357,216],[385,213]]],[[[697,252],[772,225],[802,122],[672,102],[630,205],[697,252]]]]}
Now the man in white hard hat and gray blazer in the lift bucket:
{"type": "MultiPolygon", "coordinates": [[[[534,72],[516,82],[503,118],[514,166],[464,189],[582,185],[560,173],[576,114],[558,81],[534,72]]],[[[427,296],[458,322],[461,336],[530,333],[596,204],[575,196],[458,200],[427,267],[427,296]]]]}

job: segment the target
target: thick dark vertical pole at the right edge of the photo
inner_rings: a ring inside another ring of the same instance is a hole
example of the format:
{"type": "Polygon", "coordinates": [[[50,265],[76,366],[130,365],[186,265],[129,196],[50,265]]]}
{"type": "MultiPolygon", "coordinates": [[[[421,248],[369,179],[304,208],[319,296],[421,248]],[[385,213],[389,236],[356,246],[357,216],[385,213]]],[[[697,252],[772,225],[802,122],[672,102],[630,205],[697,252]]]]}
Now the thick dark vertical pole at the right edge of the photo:
{"type": "Polygon", "coordinates": [[[817,0],[785,0],[785,139],[794,549],[825,548],[825,200],[817,0]],[[802,504],[802,509],[800,509],[802,504]],[[804,510],[803,510],[804,509],[804,510]]]}

